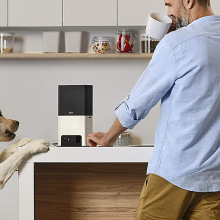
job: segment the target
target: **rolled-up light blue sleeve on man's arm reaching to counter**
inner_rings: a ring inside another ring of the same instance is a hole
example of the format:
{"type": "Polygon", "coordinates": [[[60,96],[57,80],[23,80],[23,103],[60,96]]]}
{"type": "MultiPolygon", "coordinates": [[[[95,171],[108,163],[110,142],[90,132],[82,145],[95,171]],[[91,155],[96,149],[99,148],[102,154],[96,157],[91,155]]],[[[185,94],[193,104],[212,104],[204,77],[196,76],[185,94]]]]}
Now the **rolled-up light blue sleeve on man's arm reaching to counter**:
{"type": "Polygon", "coordinates": [[[123,127],[132,129],[172,88],[178,67],[171,46],[163,39],[130,94],[115,108],[123,127]]]}

